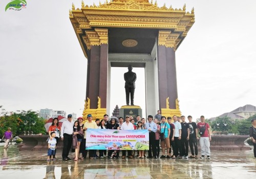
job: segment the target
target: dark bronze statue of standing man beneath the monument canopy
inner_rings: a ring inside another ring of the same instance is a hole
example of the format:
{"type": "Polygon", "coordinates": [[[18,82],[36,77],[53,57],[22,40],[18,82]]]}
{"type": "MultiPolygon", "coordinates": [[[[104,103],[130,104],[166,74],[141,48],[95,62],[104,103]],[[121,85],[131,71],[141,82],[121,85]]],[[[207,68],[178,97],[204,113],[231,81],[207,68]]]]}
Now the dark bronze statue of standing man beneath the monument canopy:
{"type": "Polygon", "coordinates": [[[135,91],[135,81],[137,79],[136,73],[132,72],[133,66],[129,64],[128,72],[124,73],[125,81],[125,94],[126,94],[126,105],[129,105],[129,96],[131,94],[131,105],[134,105],[134,91],[135,91]]]}

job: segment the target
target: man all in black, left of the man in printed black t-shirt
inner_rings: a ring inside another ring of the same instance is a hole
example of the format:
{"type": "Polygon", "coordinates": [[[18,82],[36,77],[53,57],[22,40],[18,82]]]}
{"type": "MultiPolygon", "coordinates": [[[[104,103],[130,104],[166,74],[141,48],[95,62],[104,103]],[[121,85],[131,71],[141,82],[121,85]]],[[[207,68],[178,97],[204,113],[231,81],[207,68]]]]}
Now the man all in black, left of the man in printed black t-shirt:
{"type": "Polygon", "coordinates": [[[188,140],[189,140],[189,126],[185,122],[185,116],[181,116],[181,156],[188,159],[188,140]]]}

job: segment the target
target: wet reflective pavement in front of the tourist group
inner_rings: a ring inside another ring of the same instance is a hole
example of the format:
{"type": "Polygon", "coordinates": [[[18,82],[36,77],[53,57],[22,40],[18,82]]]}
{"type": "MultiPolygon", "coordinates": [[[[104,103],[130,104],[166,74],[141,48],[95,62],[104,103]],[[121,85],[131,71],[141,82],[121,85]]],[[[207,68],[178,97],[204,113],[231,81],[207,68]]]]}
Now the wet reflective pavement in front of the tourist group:
{"type": "MultiPolygon", "coordinates": [[[[255,178],[253,151],[212,151],[201,159],[84,159],[47,162],[47,151],[0,144],[1,178],[255,178]]],[[[161,153],[161,152],[160,152],[161,153]]],[[[70,155],[74,156],[74,153],[70,155]]]]}

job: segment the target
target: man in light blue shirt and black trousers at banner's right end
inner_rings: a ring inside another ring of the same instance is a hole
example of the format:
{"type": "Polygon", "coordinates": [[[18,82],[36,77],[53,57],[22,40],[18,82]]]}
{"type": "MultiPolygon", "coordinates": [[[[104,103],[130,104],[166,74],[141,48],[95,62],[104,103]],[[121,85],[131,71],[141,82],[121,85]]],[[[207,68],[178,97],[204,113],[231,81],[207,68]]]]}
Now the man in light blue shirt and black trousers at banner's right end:
{"type": "Polygon", "coordinates": [[[150,150],[148,150],[148,156],[147,158],[152,158],[152,152],[153,151],[153,158],[157,159],[157,147],[156,147],[156,131],[157,131],[157,125],[153,122],[153,116],[148,115],[147,122],[145,123],[144,129],[147,129],[149,131],[149,137],[150,137],[150,150]]]}

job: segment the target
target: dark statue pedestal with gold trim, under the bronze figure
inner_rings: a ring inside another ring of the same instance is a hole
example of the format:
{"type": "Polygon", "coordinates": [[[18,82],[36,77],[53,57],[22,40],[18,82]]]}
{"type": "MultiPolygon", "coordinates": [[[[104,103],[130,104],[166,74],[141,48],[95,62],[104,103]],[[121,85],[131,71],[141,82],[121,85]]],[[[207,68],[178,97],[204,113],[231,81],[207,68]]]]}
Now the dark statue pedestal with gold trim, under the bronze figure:
{"type": "Polygon", "coordinates": [[[137,122],[136,117],[138,115],[142,116],[142,109],[140,108],[140,106],[125,105],[125,106],[121,106],[119,110],[119,116],[123,117],[124,121],[126,116],[132,116],[135,122],[137,122]]]}

